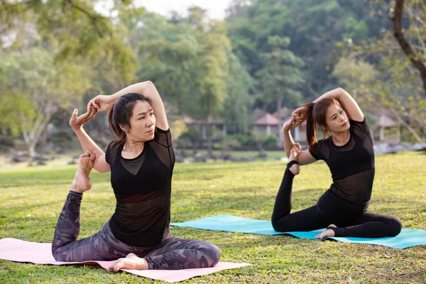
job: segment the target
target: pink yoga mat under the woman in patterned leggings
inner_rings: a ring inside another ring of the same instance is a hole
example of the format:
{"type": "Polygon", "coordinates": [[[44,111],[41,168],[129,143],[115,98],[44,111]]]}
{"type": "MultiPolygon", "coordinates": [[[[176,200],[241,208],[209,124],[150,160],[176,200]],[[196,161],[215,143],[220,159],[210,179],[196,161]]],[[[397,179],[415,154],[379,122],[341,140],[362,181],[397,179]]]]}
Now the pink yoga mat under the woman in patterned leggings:
{"type": "MultiPolygon", "coordinates": [[[[115,261],[83,261],[83,262],[63,262],[55,261],[50,251],[51,244],[33,243],[20,239],[0,239],[0,259],[6,261],[30,262],[38,264],[52,264],[60,266],[64,264],[92,264],[108,269],[115,261]]],[[[133,273],[146,278],[163,280],[170,283],[187,280],[195,276],[207,275],[225,269],[240,268],[250,266],[249,263],[229,263],[220,262],[210,268],[191,268],[179,271],[135,271],[124,269],[128,273],[133,273]]]]}

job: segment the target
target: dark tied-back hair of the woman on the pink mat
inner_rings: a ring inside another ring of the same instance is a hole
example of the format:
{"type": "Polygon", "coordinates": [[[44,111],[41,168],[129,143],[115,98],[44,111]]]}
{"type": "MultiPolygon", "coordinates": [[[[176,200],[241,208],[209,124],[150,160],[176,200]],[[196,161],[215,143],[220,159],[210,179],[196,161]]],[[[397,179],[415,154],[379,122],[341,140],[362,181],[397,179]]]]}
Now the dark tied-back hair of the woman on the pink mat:
{"type": "Polygon", "coordinates": [[[126,142],[126,132],[124,132],[120,124],[130,128],[130,118],[133,114],[133,107],[136,102],[145,101],[151,104],[151,99],[142,94],[129,93],[124,94],[114,104],[109,111],[108,122],[111,133],[116,136],[116,140],[111,143],[111,148],[118,147],[126,142]]]}

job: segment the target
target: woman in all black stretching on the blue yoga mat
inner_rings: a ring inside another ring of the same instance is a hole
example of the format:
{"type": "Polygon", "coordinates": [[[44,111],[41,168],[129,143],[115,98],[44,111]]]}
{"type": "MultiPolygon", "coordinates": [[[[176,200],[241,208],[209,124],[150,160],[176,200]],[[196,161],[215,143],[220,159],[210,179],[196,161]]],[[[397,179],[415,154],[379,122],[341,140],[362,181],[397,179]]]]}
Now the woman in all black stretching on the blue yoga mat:
{"type": "Polygon", "coordinates": [[[400,220],[368,213],[374,179],[373,139],[364,114],[344,89],[323,94],[293,111],[283,126],[284,148],[289,158],[272,214],[275,231],[312,231],[327,227],[316,236],[380,238],[396,236],[400,220]],[[306,121],[309,149],[301,151],[290,130],[306,121]],[[317,141],[317,125],[327,133],[317,141]],[[327,137],[328,136],[328,137],[327,137]],[[299,165],[324,160],[333,183],[317,204],[290,214],[293,178],[299,165]]]}

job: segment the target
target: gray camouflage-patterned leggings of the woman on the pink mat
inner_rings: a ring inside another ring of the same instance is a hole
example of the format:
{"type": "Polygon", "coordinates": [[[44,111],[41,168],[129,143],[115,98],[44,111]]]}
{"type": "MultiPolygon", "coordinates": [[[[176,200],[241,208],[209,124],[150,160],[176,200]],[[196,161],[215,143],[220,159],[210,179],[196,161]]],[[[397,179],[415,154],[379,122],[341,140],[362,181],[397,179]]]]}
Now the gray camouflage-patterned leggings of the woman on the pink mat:
{"type": "Polygon", "coordinates": [[[111,261],[129,253],[145,258],[149,269],[212,267],[220,258],[214,244],[187,239],[165,239],[158,246],[128,246],[116,239],[109,222],[96,234],[77,241],[82,194],[70,191],[56,224],[52,253],[56,261],[111,261]]]}

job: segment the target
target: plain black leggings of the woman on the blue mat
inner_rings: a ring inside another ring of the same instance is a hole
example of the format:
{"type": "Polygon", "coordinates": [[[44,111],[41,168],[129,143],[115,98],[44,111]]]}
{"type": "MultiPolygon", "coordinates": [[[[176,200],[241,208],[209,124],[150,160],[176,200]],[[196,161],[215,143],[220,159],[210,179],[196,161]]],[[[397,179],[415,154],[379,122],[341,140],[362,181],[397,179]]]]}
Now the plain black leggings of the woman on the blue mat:
{"type": "Polygon", "coordinates": [[[354,204],[327,190],[317,204],[290,214],[295,175],[285,169],[272,213],[275,231],[312,231],[335,224],[335,236],[381,238],[396,236],[403,225],[392,216],[367,213],[368,204],[354,204]]]}

